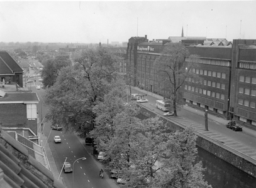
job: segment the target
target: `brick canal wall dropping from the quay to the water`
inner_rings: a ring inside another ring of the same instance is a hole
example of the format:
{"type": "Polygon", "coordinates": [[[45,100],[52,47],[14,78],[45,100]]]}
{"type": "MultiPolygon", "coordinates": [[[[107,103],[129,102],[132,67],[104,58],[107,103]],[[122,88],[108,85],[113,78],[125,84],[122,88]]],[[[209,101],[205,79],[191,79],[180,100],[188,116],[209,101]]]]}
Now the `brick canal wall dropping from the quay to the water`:
{"type": "MultiPolygon", "coordinates": [[[[139,106],[139,118],[150,118],[157,116],[156,113],[150,111],[148,108],[142,107],[142,105],[139,106]]],[[[167,119],[165,117],[159,117],[159,119],[166,123],[170,130],[172,130],[173,132],[177,130],[184,130],[184,128],[186,128],[186,126],[182,125],[181,123],[174,122],[171,119],[167,119]]],[[[226,162],[237,167],[243,172],[246,172],[247,174],[256,177],[255,160],[253,160],[252,158],[248,157],[245,154],[242,154],[241,152],[238,152],[237,150],[231,149],[230,147],[226,146],[225,144],[222,144],[221,142],[218,142],[218,140],[214,140],[197,131],[195,131],[195,133],[196,135],[198,135],[198,138],[196,140],[196,145],[198,145],[198,147],[201,147],[202,149],[210,152],[216,157],[225,160],[226,162]]]]}

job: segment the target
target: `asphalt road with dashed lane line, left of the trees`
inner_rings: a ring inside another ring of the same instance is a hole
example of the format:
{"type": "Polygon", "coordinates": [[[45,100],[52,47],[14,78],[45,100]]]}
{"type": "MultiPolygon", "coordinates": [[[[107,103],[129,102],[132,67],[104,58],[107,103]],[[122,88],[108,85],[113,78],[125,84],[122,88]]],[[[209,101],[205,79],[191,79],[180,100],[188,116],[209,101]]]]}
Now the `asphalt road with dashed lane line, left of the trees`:
{"type": "MultiPolygon", "coordinates": [[[[33,75],[33,70],[31,70],[30,75],[33,75]]],[[[36,90],[36,85],[40,85],[40,81],[38,81],[38,79],[39,78],[33,79],[36,81],[31,83],[31,90],[35,91],[40,99],[38,104],[39,123],[41,123],[41,120],[43,119],[43,133],[48,137],[48,144],[52,151],[58,172],[61,171],[62,164],[65,160],[70,162],[74,167],[73,172],[71,173],[64,173],[62,171],[60,179],[64,181],[64,184],[67,187],[117,188],[118,185],[116,185],[116,182],[113,179],[110,179],[106,172],[104,172],[103,179],[99,177],[99,170],[103,168],[101,163],[95,160],[92,155],[87,152],[85,145],[81,144],[74,133],[65,132],[65,130],[52,130],[52,128],[50,128],[51,123],[45,122],[44,117],[48,112],[48,109],[44,101],[47,93],[42,88],[40,90],[36,90]],[[53,140],[55,135],[59,135],[61,137],[61,143],[55,144],[53,140]],[[86,157],[86,160],[80,159],[82,157],[86,157]]],[[[38,126],[38,128],[42,127],[38,126]]]]}

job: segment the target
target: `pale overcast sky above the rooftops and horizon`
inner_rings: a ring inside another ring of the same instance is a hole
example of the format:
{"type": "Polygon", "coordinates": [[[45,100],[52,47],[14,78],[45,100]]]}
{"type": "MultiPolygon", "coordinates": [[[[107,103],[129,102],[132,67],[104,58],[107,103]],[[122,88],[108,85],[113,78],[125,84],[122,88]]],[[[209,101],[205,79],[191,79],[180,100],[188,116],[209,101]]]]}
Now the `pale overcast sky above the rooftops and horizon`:
{"type": "Polygon", "coordinates": [[[256,1],[1,1],[0,42],[256,39],[256,1]]]}

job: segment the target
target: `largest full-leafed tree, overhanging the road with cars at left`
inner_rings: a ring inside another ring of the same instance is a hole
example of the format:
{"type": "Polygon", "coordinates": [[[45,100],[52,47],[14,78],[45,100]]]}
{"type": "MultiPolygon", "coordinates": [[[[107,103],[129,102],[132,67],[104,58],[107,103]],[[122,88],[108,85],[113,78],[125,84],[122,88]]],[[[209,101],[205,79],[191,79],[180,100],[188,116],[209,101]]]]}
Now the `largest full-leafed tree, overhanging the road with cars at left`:
{"type": "Polygon", "coordinates": [[[47,120],[86,135],[95,126],[92,108],[104,100],[113,83],[120,79],[116,63],[116,58],[106,50],[86,50],[74,66],[60,70],[48,90],[47,103],[51,108],[47,120]]]}

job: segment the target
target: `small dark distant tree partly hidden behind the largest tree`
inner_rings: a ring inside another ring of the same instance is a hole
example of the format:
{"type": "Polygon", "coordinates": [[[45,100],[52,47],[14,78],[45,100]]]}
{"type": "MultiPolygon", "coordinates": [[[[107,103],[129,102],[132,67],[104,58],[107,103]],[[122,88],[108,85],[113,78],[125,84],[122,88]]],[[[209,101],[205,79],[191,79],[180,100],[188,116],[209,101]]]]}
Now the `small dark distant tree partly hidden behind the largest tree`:
{"type": "Polygon", "coordinates": [[[47,59],[42,70],[43,85],[53,86],[55,83],[58,71],[71,65],[69,56],[56,56],[54,59],[47,59]]]}

